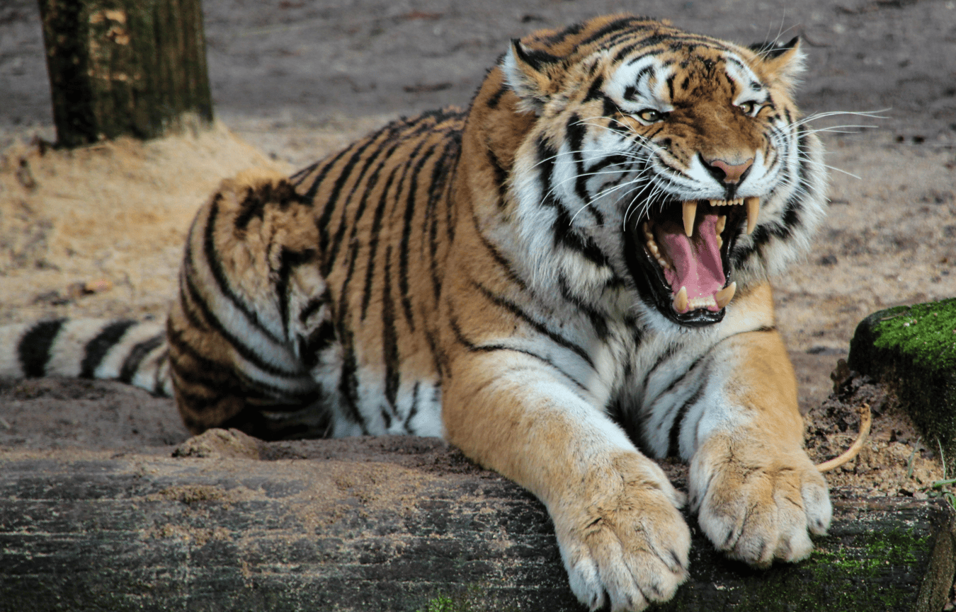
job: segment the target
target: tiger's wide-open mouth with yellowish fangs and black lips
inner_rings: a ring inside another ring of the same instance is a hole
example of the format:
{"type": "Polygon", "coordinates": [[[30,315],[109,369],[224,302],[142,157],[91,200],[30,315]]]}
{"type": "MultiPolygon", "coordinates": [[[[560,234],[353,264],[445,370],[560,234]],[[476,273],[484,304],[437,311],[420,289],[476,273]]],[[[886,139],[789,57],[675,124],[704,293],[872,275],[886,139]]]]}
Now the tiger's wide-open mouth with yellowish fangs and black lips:
{"type": "Polygon", "coordinates": [[[759,198],[688,200],[643,217],[626,232],[641,296],[684,326],[722,321],[737,287],[728,283],[728,254],[742,232],[753,231],[759,211],[759,198]]]}

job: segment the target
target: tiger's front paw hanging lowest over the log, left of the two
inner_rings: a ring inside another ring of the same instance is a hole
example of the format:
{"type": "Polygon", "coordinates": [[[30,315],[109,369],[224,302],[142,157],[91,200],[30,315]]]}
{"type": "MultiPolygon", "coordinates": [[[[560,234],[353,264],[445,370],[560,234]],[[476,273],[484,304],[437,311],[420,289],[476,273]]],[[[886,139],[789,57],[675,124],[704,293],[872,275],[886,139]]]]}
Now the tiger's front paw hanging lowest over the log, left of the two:
{"type": "Polygon", "coordinates": [[[608,601],[614,612],[643,610],[669,600],[687,578],[690,531],[677,510],[683,495],[640,459],[616,461],[630,465],[606,476],[608,490],[578,512],[567,512],[575,500],[562,504],[565,512],[554,517],[571,590],[591,610],[608,601]]]}

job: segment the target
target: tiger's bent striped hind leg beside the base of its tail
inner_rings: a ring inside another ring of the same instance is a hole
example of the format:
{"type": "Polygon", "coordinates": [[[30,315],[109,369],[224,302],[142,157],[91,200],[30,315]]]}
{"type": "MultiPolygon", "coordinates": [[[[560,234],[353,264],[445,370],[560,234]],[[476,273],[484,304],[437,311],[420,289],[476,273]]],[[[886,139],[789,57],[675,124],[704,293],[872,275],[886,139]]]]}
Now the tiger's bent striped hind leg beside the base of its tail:
{"type": "Polygon", "coordinates": [[[167,338],[186,427],[265,439],[329,432],[311,373],[335,342],[312,203],[284,177],[224,180],[189,230],[167,338]]]}

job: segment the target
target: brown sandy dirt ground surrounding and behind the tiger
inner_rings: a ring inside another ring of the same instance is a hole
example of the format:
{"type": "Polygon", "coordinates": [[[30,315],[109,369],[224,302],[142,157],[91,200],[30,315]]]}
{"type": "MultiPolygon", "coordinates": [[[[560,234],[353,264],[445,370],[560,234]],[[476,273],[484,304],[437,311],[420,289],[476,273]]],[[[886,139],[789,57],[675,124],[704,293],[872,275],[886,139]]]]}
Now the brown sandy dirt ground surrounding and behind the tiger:
{"type": "MultiPolygon", "coordinates": [[[[65,152],[44,145],[55,134],[36,3],[0,5],[0,324],[162,318],[185,229],[220,179],[250,165],[292,171],[395,116],[467,104],[511,37],[621,10],[743,43],[800,34],[809,54],[802,108],[880,116],[812,123],[871,127],[822,134],[833,168],[829,221],[807,261],[775,280],[778,325],[801,409],[811,411],[815,460],[837,454],[856,432],[855,408],[824,400],[858,321],[883,307],[956,295],[952,0],[204,6],[214,129],[65,152]]],[[[941,475],[933,450],[891,401],[876,404],[869,446],[831,483],[926,495],[941,475]]],[[[168,453],[186,437],[170,401],[138,390],[92,381],[0,383],[0,450],[168,453]]]]}

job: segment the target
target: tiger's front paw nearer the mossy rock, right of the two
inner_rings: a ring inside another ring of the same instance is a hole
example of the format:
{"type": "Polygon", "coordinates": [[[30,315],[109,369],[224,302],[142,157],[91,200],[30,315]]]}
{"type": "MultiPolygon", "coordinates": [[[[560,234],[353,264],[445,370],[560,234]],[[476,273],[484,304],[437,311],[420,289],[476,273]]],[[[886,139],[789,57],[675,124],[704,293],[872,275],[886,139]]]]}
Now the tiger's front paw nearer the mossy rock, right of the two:
{"type": "Polygon", "coordinates": [[[832,516],[827,482],[802,449],[726,436],[707,440],[691,459],[690,498],[714,546],[756,567],[809,557],[809,533],[825,533],[832,516]]]}

